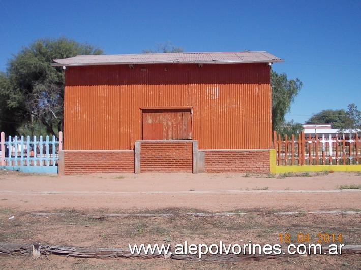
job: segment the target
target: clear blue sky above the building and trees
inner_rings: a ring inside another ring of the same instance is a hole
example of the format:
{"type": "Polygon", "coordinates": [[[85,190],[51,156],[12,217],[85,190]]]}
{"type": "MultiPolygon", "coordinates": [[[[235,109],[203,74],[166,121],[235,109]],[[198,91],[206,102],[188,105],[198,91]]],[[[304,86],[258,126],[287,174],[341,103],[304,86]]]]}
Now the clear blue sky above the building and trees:
{"type": "Polygon", "coordinates": [[[304,86],[286,120],[361,110],[361,1],[0,0],[0,71],[22,46],[66,36],[106,54],[171,41],[186,52],[267,51],[304,86]]]}

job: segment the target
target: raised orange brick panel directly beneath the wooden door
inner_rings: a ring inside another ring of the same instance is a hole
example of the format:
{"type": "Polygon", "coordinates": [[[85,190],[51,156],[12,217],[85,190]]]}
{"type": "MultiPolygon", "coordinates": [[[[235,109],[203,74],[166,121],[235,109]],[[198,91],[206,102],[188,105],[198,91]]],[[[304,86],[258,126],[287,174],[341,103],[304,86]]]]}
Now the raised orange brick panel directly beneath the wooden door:
{"type": "Polygon", "coordinates": [[[140,141],[140,172],[192,172],[192,141],[140,141]]]}

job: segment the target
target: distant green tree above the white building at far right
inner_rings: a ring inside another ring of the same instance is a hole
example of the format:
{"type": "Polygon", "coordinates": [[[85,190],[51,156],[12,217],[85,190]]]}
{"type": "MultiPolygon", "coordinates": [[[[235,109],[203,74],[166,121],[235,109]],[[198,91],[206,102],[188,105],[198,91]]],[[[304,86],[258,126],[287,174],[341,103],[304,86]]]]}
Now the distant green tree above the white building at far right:
{"type": "Polygon", "coordinates": [[[310,117],[306,124],[331,124],[332,128],[342,129],[345,126],[347,113],[344,109],[326,109],[310,117]]]}

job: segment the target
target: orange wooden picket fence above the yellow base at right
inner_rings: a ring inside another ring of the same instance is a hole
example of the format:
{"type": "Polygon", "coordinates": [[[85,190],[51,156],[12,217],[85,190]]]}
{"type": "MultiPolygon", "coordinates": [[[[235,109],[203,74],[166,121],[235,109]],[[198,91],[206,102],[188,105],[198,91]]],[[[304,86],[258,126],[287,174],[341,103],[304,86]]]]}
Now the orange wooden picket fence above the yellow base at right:
{"type": "Polygon", "coordinates": [[[361,164],[361,138],[358,134],[315,134],[302,132],[291,138],[274,131],[276,164],[288,165],[351,165],[361,164]]]}

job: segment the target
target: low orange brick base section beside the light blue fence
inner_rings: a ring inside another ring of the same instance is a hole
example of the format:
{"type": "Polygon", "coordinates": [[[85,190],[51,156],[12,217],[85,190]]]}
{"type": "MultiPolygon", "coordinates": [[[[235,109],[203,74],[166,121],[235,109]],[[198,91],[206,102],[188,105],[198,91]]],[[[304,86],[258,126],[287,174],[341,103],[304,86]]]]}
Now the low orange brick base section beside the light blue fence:
{"type": "Polygon", "coordinates": [[[134,173],[132,150],[64,150],[63,155],[64,172],[59,174],[134,173]]]}

